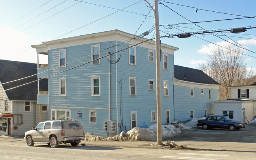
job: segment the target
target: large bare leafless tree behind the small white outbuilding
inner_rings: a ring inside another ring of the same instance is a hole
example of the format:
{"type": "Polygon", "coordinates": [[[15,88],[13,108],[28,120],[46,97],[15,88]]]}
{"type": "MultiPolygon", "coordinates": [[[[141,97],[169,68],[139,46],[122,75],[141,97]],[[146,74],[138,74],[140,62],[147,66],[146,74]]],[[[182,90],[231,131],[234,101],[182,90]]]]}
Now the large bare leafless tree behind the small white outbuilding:
{"type": "Polygon", "coordinates": [[[219,100],[230,98],[232,85],[247,85],[253,70],[247,68],[243,50],[233,45],[226,45],[225,48],[216,47],[208,54],[207,63],[200,64],[198,69],[204,71],[211,78],[219,82],[219,100]]]}

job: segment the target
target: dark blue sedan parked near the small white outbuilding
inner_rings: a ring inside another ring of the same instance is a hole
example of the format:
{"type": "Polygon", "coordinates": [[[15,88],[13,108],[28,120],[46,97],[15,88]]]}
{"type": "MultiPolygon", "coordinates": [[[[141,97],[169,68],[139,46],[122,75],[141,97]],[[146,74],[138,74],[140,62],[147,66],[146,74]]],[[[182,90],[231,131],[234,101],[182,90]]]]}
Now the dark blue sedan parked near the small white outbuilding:
{"type": "Polygon", "coordinates": [[[227,116],[207,116],[204,120],[198,120],[197,126],[208,128],[226,128],[230,131],[241,129],[245,127],[245,123],[230,120],[227,116]]]}

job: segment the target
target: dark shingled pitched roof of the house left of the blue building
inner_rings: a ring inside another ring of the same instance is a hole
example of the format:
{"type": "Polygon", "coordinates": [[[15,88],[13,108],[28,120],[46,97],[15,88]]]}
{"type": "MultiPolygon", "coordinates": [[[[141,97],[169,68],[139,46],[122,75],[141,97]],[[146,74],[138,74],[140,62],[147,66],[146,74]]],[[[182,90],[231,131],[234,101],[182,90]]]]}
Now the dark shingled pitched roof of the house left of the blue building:
{"type": "MultiPolygon", "coordinates": [[[[35,75],[36,73],[37,64],[0,60],[1,83],[10,82],[30,75],[35,75]]],[[[22,84],[26,84],[28,82],[32,82],[34,80],[37,80],[36,75],[16,82],[3,84],[3,87],[6,90],[22,84]]],[[[43,88],[45,87],[46,86],[44,85],[43,88]]],[[[33,82],[31,84],[23,85],[15,89],[8,90],[6,91],[6,95],[8,96],[9,100],[37,100],[37,82],[33,82]]]]}

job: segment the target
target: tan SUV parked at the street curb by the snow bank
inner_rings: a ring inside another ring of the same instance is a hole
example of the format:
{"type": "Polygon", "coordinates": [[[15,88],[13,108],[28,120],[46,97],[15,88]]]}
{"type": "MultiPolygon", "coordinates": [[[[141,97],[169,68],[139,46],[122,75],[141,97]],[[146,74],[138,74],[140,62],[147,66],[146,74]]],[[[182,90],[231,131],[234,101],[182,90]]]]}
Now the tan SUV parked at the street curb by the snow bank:
{"type": "Polygon", "coordinates": [[[27,131],[24,140],[28,146],[47,143],[56,148],[62,143],[77,146],[83,140],[83,135],[83,127],[76,120],[47,120],[27,131]]]}

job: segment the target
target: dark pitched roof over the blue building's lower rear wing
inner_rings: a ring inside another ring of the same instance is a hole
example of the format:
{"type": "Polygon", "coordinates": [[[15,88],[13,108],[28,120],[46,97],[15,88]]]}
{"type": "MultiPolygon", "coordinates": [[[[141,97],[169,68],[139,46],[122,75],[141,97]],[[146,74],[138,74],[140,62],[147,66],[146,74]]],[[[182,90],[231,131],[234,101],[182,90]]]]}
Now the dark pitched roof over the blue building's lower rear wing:
{"type": "Polygon", "coordinates": [[[177,80],[182,80],[187,82],[219,85],[218,82],[213,80],[213,78],[211,78],[210,76],[206,75],[203,71],[199,69],[182,67],[179,65],[174,65],[174,77],[177,80]]]}

